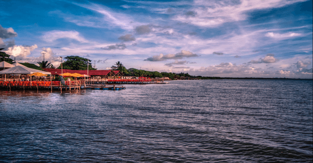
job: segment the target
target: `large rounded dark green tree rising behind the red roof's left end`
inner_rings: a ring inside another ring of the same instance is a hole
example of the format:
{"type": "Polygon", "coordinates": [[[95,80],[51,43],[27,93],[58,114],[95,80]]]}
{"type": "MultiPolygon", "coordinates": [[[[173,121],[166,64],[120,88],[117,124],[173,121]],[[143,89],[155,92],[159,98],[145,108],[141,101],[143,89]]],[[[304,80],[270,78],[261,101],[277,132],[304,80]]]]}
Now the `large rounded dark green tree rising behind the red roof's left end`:
{"type": "MultiPolygon", "coordinates": [[[[96,68],[92,68],[91,66],[91,60],[82,58],[79,56],[67,56],[64,59],[67,59],[67,61],[63,62],[63,69],[68,70],[87,70],[87,67],[89,64],[89,70],[96,70],[96,68]]],[[[58,67],[58,69],[61,69],[61,65],[58,67]]]]}

